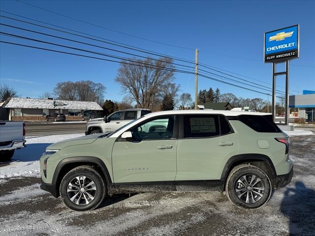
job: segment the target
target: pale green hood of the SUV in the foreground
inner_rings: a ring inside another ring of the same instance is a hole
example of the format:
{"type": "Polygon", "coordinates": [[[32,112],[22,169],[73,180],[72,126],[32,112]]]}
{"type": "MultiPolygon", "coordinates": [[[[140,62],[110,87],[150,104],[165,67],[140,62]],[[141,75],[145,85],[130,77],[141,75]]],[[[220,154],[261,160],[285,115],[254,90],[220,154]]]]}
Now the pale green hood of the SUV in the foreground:
{"type": "Polygon", "coordinates": [[[86,136],[82,136],[82,137],[78,137],[74,139],[63,140],[63,141],[54,143],[52,145],[49,145],[47,149],[60,150],[69,146],[74,146],[74,145],[91,144],[97,139],[97,137],[101,135],[102,134],[91,134],[91,135],[86,135],[86,136]]]}

